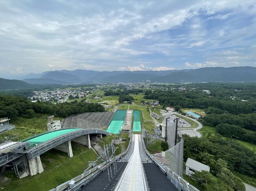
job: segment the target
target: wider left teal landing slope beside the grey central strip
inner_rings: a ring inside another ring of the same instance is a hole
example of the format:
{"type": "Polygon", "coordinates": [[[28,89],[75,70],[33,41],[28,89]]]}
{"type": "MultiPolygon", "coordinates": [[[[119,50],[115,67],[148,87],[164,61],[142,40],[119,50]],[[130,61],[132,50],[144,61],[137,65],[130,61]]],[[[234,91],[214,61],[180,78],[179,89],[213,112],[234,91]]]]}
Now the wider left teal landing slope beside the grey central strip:
{"type": "Polygon", "coordinates": [[[124,124],[126,110],[117,110],[111,119],[107,132],[118,134],[124,124]]]}

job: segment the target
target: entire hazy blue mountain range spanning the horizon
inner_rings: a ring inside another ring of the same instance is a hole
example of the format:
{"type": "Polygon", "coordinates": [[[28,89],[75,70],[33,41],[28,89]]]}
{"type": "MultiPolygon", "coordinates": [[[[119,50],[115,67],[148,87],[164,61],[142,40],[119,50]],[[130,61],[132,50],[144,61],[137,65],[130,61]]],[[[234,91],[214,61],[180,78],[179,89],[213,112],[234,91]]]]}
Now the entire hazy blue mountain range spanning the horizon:
{"type": "Polygon", "coordinates": [[[0,78],[0,89],[33,87],[32,84],[111,82],[256,82],[256,67],[204,67],[167,71],[59,70],[29,73],[19,80],[0,78]],[[21,81],[22,80],[22,81],[21,81]]]}

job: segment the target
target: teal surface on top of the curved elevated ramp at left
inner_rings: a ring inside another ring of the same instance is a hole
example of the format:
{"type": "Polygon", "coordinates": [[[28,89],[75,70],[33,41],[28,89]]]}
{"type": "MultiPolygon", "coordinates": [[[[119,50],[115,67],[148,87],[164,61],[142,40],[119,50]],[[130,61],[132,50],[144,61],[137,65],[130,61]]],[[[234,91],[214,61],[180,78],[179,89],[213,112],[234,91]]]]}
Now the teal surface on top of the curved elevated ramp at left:
{"type": "Polygon", "coordinates": [[[56,138],[58,136],[64,135],[66,133],[70,133],[70,132],[78,131],[78,130],[81,130],[81,129],[61,129],[61,130],[57,130],[57,131],[52,131],[52,132],[45,133],[43,135],[39,135],[34,138],[28,139],[25,142],[30,142],[30,145],[38,144],[38,143],[46,142],[46,141],[56,138]]]}

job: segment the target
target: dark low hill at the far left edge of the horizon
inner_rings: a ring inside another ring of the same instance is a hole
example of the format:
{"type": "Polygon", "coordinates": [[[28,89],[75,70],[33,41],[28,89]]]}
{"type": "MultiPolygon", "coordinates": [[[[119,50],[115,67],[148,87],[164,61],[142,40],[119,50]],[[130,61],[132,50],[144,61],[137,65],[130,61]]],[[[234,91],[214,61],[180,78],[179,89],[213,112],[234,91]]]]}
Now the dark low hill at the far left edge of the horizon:
{"type": "Polygon", "coordinates": [[[21,80],[7,80],[0,78],[0,89],[20,89],[27,87],[33,87],[33,85],[21,80]]]}

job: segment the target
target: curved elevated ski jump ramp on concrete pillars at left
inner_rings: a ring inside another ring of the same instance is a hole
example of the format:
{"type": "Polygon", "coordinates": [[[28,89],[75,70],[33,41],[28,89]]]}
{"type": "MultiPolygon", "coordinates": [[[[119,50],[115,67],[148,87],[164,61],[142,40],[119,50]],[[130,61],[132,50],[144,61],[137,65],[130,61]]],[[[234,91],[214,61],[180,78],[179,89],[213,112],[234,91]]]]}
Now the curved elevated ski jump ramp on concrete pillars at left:
{"type": "MultiPolygon", "coordinates": [[[[62,130],[59,130],[62,131],[62,130]]],[[[56,133],[57,131],[44,133],[39,136],[26,140],[25,142],[8,142],[0,145],[0,167],[5,168],[6,164],[12,162],[15,174],[19,178],[28,175],[36,175],[43,172],[40,155],[50,149],[57,149],[73,156],[70,141],[77,142],[91,148],[90,134],[108,135],[109,133],[102,129],[76,129],[75,131],[67,131],[65,133],[56,133]],[[47,135],[46,135],[47,134],[47,135]],[[51,135],[48,135],[51,134],[51,135]],[[54,136],[53,136],[54,135],[54,136]]]]}

